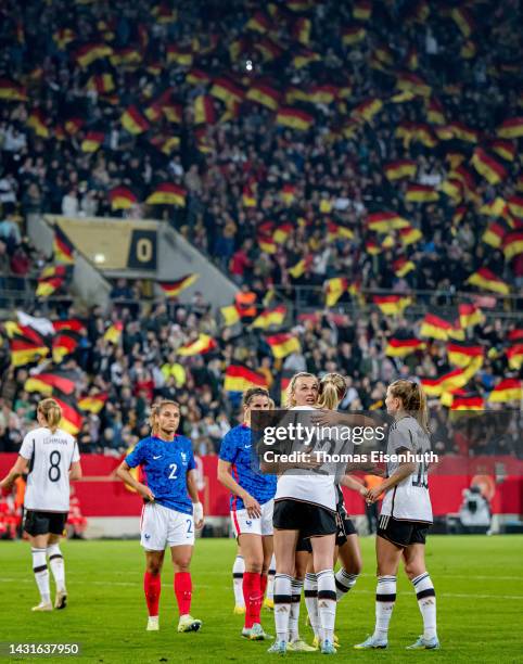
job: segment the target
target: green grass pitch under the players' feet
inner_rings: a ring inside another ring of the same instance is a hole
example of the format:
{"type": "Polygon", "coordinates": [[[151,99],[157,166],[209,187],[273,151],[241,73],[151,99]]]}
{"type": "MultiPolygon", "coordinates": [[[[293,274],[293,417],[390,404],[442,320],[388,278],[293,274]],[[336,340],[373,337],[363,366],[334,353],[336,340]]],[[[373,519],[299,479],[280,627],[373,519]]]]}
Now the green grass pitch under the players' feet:
{"type": "MultiPolygon", "coordinates": [[[[430,537],[428,569],[437,593],[442,650],[406,652],[421,633],[421,616],[405,574],[398,574],[390,649],[354,651],[374,624],[373,539],[361,540],[363,574],[339,605],[337,660],[353,662],[502,662],[523,661],[523,537],[430,537]]],[[[203,620],[197,634],[177,634],[173,571],[166,565],[161,600],[161,631],[146,633],[142,592],[143,553],[137,541],[68,541],[63,545],[69,606],[33,614],[38,596],[29,546],[0,544],[0,641],[79,642],[85,662],[257,662],[268,659],[265,642],[239,638],[242,617],[232,615],[231,565],[234,542],[196,542],[192,575],[192,614],[203,620]]],[[[302,634],[306,610],[302,603],[302,634]]],[[[272,614],[264,626],[275,633],[272,614]]],[[[310,640],[310,639],[309,639],[310,640]]],[[[288,654],[292,661],[323,661],[319,654],[288,654]]],[[[10,657],[11,661],[17,661],[10,657]]],[[[38,661],[38,659],[18,657],[38,661]]],[[[4,660],[7,661],[7,660],[4,660]]],[[[44,661],[64,661],[47,657],[44,661]]]]}

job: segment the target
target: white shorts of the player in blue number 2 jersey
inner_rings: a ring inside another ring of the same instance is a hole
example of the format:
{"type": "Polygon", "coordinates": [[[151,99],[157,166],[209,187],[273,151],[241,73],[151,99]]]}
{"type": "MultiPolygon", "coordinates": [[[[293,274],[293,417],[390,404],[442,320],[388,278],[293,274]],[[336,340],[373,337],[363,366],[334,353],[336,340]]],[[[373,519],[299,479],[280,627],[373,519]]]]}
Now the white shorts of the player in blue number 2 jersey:
{"type": "Polygon", "coordinates": [[[140,544],[148,551],[163,551],[166,546],[194,545],[192,514],[176,512],[157,502],[143,506],[140,544]]]}

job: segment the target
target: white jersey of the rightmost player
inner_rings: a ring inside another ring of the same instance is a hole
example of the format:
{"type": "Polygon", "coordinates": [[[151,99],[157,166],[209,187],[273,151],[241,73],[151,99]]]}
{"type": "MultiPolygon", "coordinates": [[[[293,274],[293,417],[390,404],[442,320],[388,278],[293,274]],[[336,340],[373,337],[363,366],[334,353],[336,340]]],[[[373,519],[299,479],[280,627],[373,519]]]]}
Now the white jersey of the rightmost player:
{"type": "MultiPolygon", "coordinates": [[[[392,424],[388,433],[387,455],[405,454],[406,451],[422,455],[430,450],[429,436],[416,418],[407,416],[392,424]]],[[[393,475],[399,465],[398,462],[390,461],[386,469],[387,476],[393,475]]],[[[426,463],[419,462],[411,475],[385,493],[381,514],[404,521],[432,523],[426,463]]]]}

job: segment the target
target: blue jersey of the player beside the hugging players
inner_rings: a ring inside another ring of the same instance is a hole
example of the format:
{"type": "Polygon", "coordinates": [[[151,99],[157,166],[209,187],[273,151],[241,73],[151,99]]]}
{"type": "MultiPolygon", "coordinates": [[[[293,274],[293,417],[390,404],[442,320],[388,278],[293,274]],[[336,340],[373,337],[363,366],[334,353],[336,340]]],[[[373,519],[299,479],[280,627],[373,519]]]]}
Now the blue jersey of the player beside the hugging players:
{"type": "MultiPolygon", "coordinates": [[[[231,463],[232,477],[263,505],[276,494],[276,475],[264,475],[252,448],[251,429],[240,424],[231,429],[221,442],[220,459],[231,463]]],[[[231,496],[231,510],[244,509],[239,496],[231,496]]]]}

